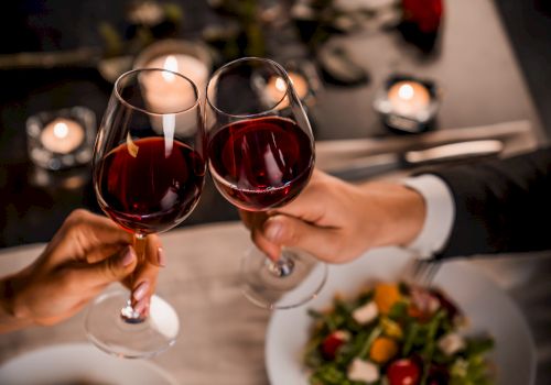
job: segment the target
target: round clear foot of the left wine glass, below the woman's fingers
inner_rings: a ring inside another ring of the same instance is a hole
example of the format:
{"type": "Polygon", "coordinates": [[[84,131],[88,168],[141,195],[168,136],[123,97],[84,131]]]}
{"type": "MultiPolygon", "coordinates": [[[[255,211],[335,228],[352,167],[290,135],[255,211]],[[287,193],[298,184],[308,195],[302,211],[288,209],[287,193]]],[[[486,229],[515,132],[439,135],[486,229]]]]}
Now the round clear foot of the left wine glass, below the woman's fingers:
{"type": "Polygon", "coordinates": [[[152,358],[172,346],[180,329],[172,306],[153,296],[149,317],[129,322],[120,316],[128,297],[128,292],[110,292],[90,305],[85,320],[88,339],[102,351],[127,359],[152,358]]]}

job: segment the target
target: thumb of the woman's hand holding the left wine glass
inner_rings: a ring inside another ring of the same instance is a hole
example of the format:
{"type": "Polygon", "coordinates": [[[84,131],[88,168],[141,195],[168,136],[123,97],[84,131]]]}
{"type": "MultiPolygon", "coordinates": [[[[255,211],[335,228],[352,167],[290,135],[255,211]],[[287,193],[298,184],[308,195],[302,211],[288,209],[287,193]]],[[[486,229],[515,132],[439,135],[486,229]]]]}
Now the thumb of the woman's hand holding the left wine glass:
{"type": "Polygon", "coordinates": [[[126,246],[118,254],[87,265],[80,271],[80,279],[87,286],[107,285],[121,280],[136,267],[138,257],[132,246],[126,246]]]}

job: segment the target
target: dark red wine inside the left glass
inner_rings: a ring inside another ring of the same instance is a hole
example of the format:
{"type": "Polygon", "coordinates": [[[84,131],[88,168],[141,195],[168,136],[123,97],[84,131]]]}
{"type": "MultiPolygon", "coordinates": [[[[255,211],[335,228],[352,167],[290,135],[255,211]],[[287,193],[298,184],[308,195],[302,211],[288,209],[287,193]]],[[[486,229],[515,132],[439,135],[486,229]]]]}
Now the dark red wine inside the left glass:
{"type": "Polygon", "coordinates": [[[123,228],[153,233],[180,223],[198,201],[203,157],[190,146],[147,138],[112,150],[96,174],[104,211],[123,228]],[[137,152],[134,150],[137,148],[137,152]]]}

